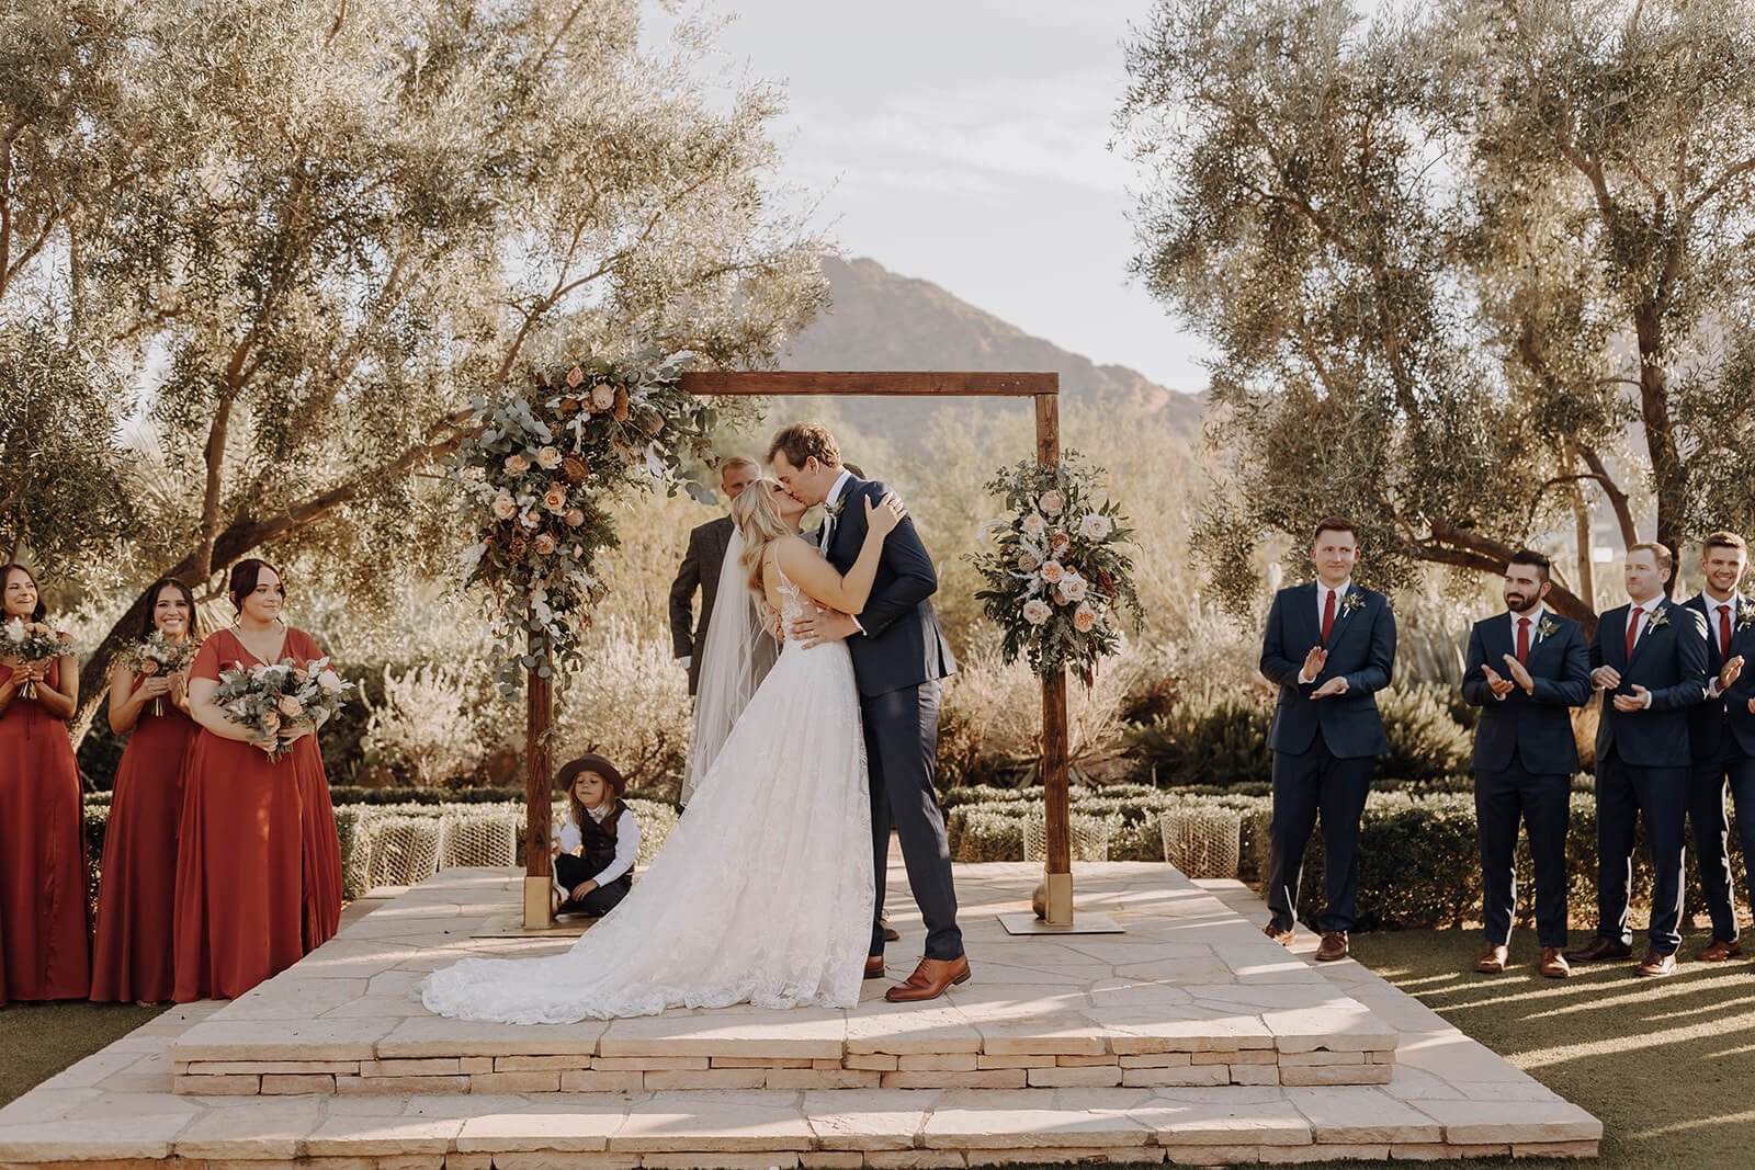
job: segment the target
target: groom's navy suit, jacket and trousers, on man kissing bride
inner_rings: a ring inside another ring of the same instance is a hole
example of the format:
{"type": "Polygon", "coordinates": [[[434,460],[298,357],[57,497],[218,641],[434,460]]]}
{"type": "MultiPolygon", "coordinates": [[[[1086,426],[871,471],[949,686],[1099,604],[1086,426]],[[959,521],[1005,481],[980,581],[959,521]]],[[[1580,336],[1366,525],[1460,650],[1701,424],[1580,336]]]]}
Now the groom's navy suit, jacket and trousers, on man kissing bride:
{"type": "MultiPolygon", "coordinates": [[[[867,530],[865,502],[879,503],[885,491],[881,482],[849,477],[830,502],[835,514],[823,521],[827,544],[823,528],[818,530],[818,547],[837,572],[846,574],[858,560],[867,530]]],[[[956,660],[928,600],[937,588],[939,574],[914,521],[904,519],[885,540],[870,598],[856,614],[863,633],[848,639],[848,651],[860,689],[872,796],[878,900],[869,954],[883,954],[885,935],[878,919],[883,916],[893,819],[907,884],[927,926],[925,954],[949,961],[963,954],[963,937],[956,926],[944,812],[934,791],[934,758],[941,679],[956,672],[956,660]]]]}

